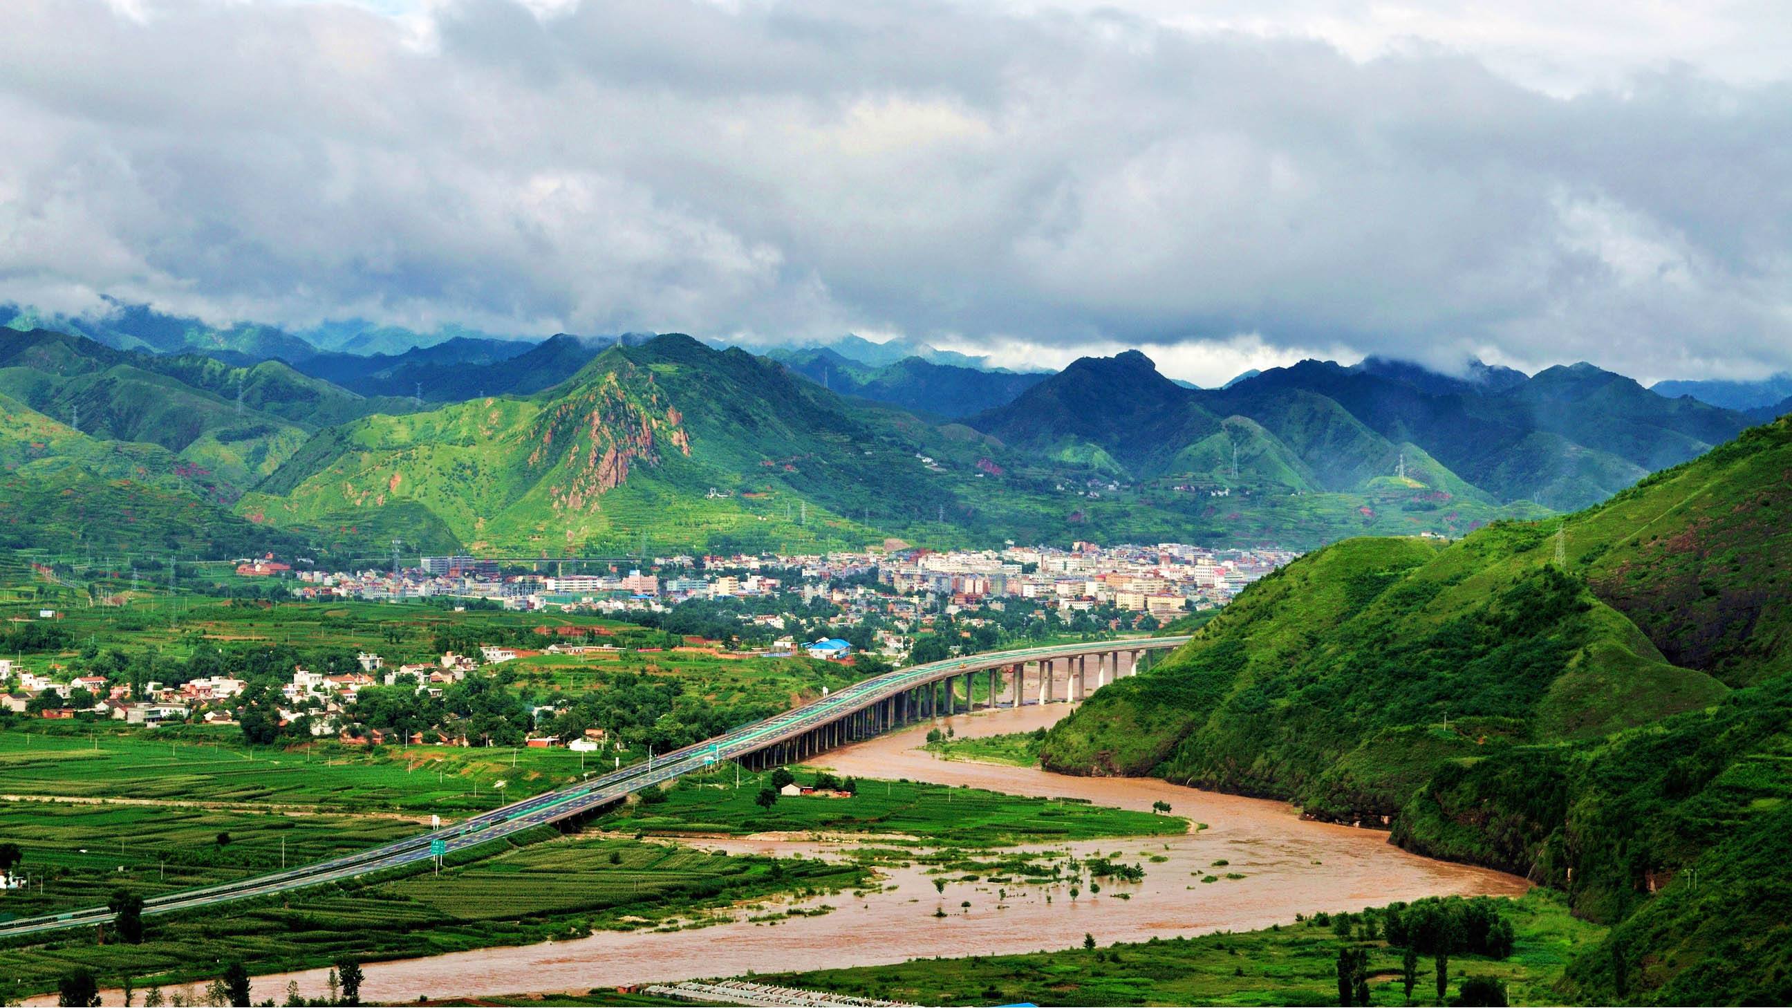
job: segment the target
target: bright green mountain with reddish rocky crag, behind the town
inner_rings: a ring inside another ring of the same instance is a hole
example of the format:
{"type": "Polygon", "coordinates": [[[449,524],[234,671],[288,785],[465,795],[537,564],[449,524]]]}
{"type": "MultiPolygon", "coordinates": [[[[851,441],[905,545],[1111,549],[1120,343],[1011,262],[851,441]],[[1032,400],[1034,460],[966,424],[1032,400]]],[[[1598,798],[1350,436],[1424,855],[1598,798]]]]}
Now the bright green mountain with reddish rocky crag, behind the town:
{"type": "MultiPolygon", "coordinates": [[[[1226,430],[1199,411],[1188,420],[1210,434],[1226,430]]],[[[1233,423],[1240,432],[1247,425],[1233,423]]],[[[1115,450],[1131,461],[1125,445],[1115,450]]],[[[1269,441],[1247,454],[1263,470],[1299,468],[1269,441]]],[[[1391,466],[1396,454],[1389,447],[1391,466]]],[[[238,511],[278,526],[351,529],[412,508],[466,549],[520,556],[634,552],[643,534],[677,549],[889,536],[928,545],[1098,536],[1305,547],[1340,529],[1466,531],[1503,513],[1471,499],[1441,502],[1417,482],[1305,495],[1242,486],[1236,497],[1211,497],[1167,482],[1120,486],[1116,472],[1098,445],[1005,445],[844,398],[776,361],[663,335],[611,346],[536,395],[323,430],[238,511]]]]}

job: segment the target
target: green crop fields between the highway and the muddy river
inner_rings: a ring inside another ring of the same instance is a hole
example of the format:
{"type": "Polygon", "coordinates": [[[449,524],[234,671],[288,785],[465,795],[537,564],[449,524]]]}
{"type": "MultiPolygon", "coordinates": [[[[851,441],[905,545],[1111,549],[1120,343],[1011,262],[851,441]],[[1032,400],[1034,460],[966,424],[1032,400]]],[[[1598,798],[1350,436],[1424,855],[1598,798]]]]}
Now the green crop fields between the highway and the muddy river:
{"type": "MultiPolygon", "coordinates": [[[[471,852],[439,877],[400,877],[301,890],[235,904],[231,913],[149,917],[142,945],[99,945],[91,933],[0,945],[0,997],[54,990],[91,969],[102,985],[138,990],[199,983],[219,963],[251,972],[523,945],[593,929],[688,925],[738,900],[855,888],[866,872],[812,859],[701,854],[627,838],[561,838],[550,829],[471,852]]],[[[52,882],[54,886],[54,882],[52,882]]],[[[272,995],[274,992],[260,992],[272,995]]]]}

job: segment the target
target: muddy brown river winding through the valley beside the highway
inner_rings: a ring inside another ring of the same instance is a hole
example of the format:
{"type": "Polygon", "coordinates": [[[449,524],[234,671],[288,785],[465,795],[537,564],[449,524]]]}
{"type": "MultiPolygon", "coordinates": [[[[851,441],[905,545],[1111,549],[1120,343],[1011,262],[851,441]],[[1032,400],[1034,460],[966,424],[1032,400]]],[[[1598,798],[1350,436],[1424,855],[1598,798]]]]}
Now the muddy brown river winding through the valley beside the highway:
{"type": "MultiPolygon", "coordinates": [[[[944,719],[957,735],[1023,732],[1050,725],[1068,705],[1027,707],[944,719]]],[[[1038,768],[941,760],[919,750],[925,726],[835,750],[814,762],[855,777],[969,784],[1029,796],[1088,798],[1102,805],[1150,811],[1168,802],[1174,814],[1208,829],[1176,838],[1059,843],[1048,850],[1120,852],[1143,863],[1136,884],[1104,884],[1100,895],[1072,900],[1068,888],[1012,886],[1000,900],[987,882],[934,881],[916,868],[885,870],[885,884],[867,895],[835,893],[776,904],[778,909],[837,908],[821,917],[790,917],[774,925],[751,922],[765,908],[740,909],[726,924],[670,933],[600,933],[570,942],[482,949],[423,960],[369,963],[362,997],[414,1001],[418,995],[493,995],[584,992],[643,981],[738,976],[747,970],[806,970],[896,963],[928,956],[971,956],[1068,949],[1082,936],[1098,942],[1154,934],[1244,931],[1292,920],[1296,913],[1360,909],[1426,895],[1518,895],[1523,879],[1430,861],[1387,843],[1387,834],[1303,821],[1290,805],[1177,787],[1161,780],[1084,778],[1038,768]],[[1150,857],[1165,861],[1150,863],[1150,857]],[[1213,868],[1213,861],[1229,865],[1213,868]],[[1217,882],[1202,882],[1206,873],[1217,882]],[[1228,872],[1244,879],[1224,879],[1228,872]],[[1129,899],[1120,899],[1125,893],[1129,899]],[[1047,902],[1050,895],[1050,902],[1047,902]],[[969,900],[969,909],[961,902],[969,900]],[[944,918],[934,917],[944,908],[944,918]]],[[[690,841],[701,848],[763,854],[837,854],[853,841],[737,838],[690,841]]],[[[1045,850],[1045,848],[1041,848],[1045,850]]],[[[289,979],[306,995],[323,995],[324,970],[263,976],[254,995],[285,999],[289,979]]]]}

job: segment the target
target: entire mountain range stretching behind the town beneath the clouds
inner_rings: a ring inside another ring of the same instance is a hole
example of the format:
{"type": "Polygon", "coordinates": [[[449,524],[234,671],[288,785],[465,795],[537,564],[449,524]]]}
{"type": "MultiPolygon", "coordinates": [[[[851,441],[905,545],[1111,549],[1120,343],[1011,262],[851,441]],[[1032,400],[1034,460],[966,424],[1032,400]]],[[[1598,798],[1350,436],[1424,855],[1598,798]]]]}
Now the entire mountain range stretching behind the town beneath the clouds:
{"type": "MultiPolygon", "coordinates": [[[[192,334],[118,319],[163,343],[192,334]]],[[[165,450],[185,475],[158,491],[319,543],[529,556],[638,551],[643,534],[681,549],[1457,536],[1600,500],[1749,421],[1588,364],[1452,377],[1305,361],[1192,389],[1138,352],[1055,375],[645,334],[220,359],[237,353],[14,330],[0,395],[97,443],[165,450]],[[550,420],[566,416],[582,427],[550,420]]]]}

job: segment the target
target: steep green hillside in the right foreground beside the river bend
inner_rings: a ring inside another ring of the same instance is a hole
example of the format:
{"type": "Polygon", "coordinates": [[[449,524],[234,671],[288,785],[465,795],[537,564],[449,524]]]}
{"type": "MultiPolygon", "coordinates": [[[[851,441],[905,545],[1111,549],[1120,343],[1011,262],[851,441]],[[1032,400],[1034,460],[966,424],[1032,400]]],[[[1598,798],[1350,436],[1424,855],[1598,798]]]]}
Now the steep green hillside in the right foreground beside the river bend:
{"type": "Polygon", "coordinates": [[[1758,999],[1792,967],[1787,472],[1792,418],[1564,518],[1340,542],[1091,696],[1045,762],[1288,798],[1564,888],[1622,922],[1573,970],[1593,999],[1758,999]]]}

